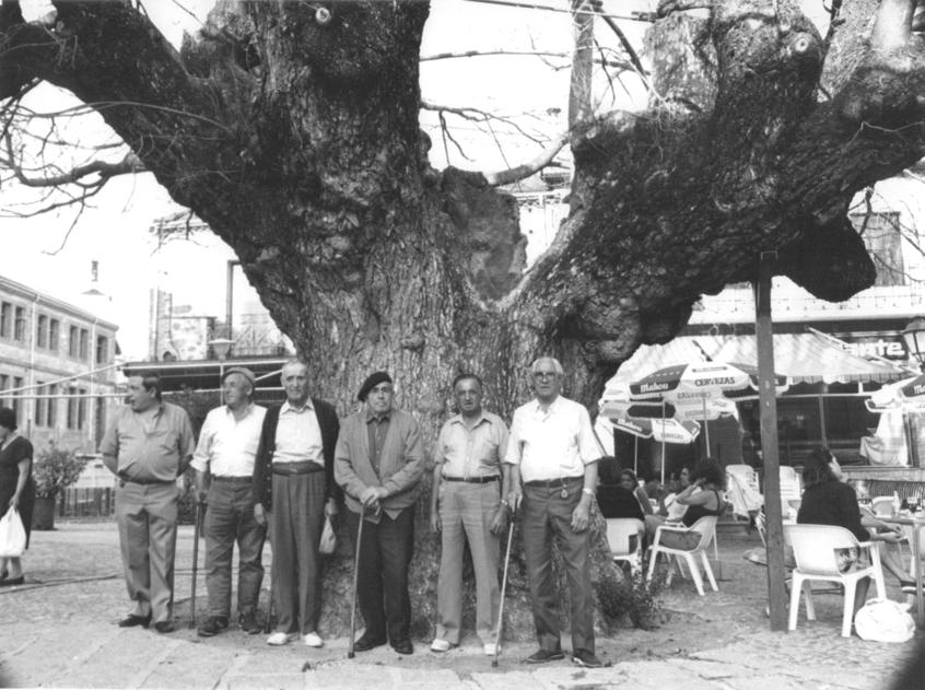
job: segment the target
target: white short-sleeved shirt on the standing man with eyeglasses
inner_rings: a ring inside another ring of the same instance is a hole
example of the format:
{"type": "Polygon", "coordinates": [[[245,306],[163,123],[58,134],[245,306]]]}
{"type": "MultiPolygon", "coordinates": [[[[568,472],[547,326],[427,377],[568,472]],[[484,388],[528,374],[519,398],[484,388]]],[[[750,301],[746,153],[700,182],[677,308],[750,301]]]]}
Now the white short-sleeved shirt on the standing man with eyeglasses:
{"type": "Polygon", "coordinates": [[[514,411],[504,461],[519,466],[523,481],[581,477],[600,457],[583,405],[559,396],[546,411],[537,399],[514,411]]]}

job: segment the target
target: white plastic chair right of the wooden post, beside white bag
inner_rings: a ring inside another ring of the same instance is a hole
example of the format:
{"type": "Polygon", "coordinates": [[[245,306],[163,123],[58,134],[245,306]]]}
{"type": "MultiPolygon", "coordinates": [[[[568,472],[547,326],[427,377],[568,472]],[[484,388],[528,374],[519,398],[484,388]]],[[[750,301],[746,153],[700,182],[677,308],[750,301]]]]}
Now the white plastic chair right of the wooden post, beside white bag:
{"type": "Polygon", "coordinates": [[[799,615],[799,595],[807,583],[806,618],[816,620],[812,606],[811,582],[838,582],[844,586],[844,612],[842,615],[842,636],[851,636],[851,623],[854,615],[854,593],[857,582],[863,577],[873,577],[877,585],[877,596],[886,598],[883,571],[880,568],[880,552],[873,541],[858,541],[844,527],[833,525],[784,525],[784,541],[794,549],[797,566],[793,571],[791,587],[791,611],[788,630],[796,630],[799,615]],[[865,569],[843,573],[839,570],[835,549],[859,548],[867,551],[870,565],[865,569]]]}

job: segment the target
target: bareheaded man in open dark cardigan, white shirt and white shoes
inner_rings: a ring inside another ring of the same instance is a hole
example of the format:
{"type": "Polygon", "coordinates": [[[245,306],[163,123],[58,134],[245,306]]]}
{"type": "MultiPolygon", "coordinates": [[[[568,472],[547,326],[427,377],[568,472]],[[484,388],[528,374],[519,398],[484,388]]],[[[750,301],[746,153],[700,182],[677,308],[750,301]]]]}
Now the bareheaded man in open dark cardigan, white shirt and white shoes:
{"type": "Polygon", "coordinates": [[[338,421],[333,407],[308,395],[308,366],[298,360],[282,369],[286,400],[267,410],[254,465],[254,517],[268,523],[273,545],[277,630],[267,644],[318,634],[321,569],[318,545],[325,515],[336,515],[333,452],[338,421]]]}

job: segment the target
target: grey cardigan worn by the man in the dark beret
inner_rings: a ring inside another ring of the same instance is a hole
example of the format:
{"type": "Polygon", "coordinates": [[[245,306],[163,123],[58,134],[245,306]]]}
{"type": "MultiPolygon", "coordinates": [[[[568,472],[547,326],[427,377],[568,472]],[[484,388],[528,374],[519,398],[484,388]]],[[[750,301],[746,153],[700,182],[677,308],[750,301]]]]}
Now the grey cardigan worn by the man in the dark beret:
{"type": "Polygon", "coordinates": [[[379,503],[390,517],[414,504],[424,473],[424,445],[418,422],[408,412],[393,410],[378,476],[370,460],[366,409],[341,422],[335,451],[335,481],[343,489],[347,507],[361,512],[360,494],[367,487],[383,487],[388,495],[379,503]]]}

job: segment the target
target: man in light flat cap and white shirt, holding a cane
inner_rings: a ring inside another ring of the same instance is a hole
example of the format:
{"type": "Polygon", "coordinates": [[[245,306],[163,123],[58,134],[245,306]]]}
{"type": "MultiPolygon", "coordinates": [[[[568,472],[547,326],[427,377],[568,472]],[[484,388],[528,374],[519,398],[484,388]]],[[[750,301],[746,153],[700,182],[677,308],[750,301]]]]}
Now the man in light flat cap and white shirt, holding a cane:
{"type": "Polygon", "coordinates": [[[254,519],[251,483],[267,409],[251,401],[254,384],[249,369],[234,366],[225,371],[225,404],[206,417],[192,456],[197,496],[209,506],[204,524],[209,617],[199,627],[201,638],[211,638],[229,627],[235,542],[238,624],[249,634],[260,632],[256,611],[264,581],[266,527],[254,519]]]}

